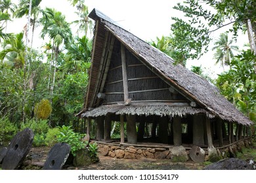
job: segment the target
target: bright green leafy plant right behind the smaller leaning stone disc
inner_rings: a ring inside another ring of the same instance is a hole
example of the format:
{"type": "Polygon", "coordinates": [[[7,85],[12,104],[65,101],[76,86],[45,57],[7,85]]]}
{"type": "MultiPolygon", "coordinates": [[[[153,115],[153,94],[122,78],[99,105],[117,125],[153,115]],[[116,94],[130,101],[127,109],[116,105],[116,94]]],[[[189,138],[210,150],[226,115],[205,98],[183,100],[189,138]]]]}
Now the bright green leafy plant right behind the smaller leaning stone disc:
{"type": "Polygon", "coordinates": [[[57,136],[58,142],[66,142],[71,146],[71,153],[75,156],[75,152],[77,150],[81,150],[85,148],[85,142],[81,141],[81,139],[85,136],[85,134],[75,133],[71,126],[62,125],[59,127],[60,134],[57,136]]]}

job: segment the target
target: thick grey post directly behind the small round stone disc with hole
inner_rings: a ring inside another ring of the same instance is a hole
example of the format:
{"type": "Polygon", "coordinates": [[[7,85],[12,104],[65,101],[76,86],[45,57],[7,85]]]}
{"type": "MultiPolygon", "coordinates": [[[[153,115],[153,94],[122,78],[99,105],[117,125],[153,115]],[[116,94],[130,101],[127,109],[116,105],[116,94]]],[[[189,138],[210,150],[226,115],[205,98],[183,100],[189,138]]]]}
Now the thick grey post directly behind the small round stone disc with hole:
{"type": "Polygon", "coordinates": [[[193,118],[193,144],[196,146],[204,145],[203,139],[203,122],[205,117],[203,115],[194,115],[193,118]]]}

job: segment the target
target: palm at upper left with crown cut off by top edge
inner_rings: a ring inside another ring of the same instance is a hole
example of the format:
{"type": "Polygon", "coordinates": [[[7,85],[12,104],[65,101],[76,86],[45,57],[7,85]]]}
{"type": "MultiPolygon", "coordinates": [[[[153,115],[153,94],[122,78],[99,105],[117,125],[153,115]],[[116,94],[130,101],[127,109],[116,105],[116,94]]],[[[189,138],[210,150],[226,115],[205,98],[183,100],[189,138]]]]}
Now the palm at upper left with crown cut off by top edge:
{"type": "MultiPolygon", "coordinates": [[[[30,10],[30,1],[31,0],[20,0],[20,3],[18,4],[18,9],[15,13],[16,18],[22,18],[24,15],[28,16],[30,10]]],[[[39,13],[42,12],[41,8],[39,7],[41,1],[42,0],[32,0],[31,16],[33,18],[30,19],[30,24],[32,24],[32,39],[30,42],[30,48],[32,48],[33,45],[33,33],[35,31],[35,25],[37,24],[39,13]]]]}

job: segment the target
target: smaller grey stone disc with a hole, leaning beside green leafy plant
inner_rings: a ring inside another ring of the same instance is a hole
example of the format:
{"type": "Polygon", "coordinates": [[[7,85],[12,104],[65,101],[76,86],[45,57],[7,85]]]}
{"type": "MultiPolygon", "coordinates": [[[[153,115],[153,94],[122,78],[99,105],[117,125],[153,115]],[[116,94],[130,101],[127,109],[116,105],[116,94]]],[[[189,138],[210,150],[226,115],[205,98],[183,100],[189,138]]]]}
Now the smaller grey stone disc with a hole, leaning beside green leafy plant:
{"type": "Polygon", "coordinates": [[[70,145],[64,142],[55,144],[45,161],[43,170],[61,170],[70,155],[70,145]]]}

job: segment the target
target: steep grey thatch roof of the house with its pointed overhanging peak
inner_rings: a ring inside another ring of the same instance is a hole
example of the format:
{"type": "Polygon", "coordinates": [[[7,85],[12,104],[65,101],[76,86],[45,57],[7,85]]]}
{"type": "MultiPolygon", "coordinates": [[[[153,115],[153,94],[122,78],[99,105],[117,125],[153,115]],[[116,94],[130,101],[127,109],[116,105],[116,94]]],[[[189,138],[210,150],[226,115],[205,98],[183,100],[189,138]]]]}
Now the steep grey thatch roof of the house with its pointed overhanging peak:
{"type": "MultiPolygon", "coordinates": [[[[94,20],[99,20],[100,24],[95,28],[96,33],[93,46],[93,64],[91,66],[87,101],[85,101],[87,104],[85,105],[86,109],[90,106],[93,93],[96,92],[96,76],[93,76],[93,73],[98,72],[102,53],[102,50],[100,50],[102,46],[99,41],[104,37],[104,34],[100,34],[100,32],[109,31],[142,63],[144,63],[148,69],[156,73],[156,75],[160,76],[171,86],[174,86],[180,93],[191,99],[191,101],[195,101],[200,108],[202,108],[204,111],[203,113],[207,112],[208,114],[218,116],[219,118],[229,122],[237,122],[244,125],[253,124],[246,116],[244,116],[244,114],[242,114],[242,112],[236,109],[232,103],[227,101],[226,98],[219,93],[219,90],[213,86],[213,84],[209,83],[201,76],[189,71],[182,65],[174,65],[173,59],[169,56],[154,48],[147,42],[142,41],[129,31],[117,26],[113,20],[102,14],[102,12],[94,9],[91,12],[90,17],[94,20]]],[[[103,108],[104,107],[99,108],[98,110],[103,108]]],[[[118,110],[118,114],[123,114],[123,110],[124,109],[118,110]]],[[[188,114],[192,114],[192,110],[195,109],[190,108],[190,110],[188,110],[188,108],[186,108],[186,111],[190,111],[188,114]]],[[[129,111],[128,113],[136,113],[136,110],[132,107],[129,109],[126,108],[125,111],[129,111]]],[[[141,111],[144,110],[140,110],[140,112],[141,111]]],[[[175,110],[170,109],[170,111],[175,110]]],[[[182,111],[185,110],[182,109],[182,111]]],[[[102,112],[102,114],[103,113],[104,112],[102,112]]],[[[173,115],[175,113],[173,112],[171,114],[173,115]]],[[[194,114],[196,114],[196,112],[194,112],[194,114]]],[[[87,114],[84,114],[84,116],[87,116],[87,114]]]]}

